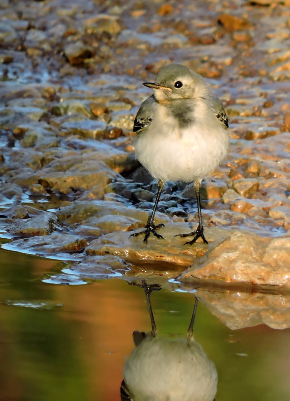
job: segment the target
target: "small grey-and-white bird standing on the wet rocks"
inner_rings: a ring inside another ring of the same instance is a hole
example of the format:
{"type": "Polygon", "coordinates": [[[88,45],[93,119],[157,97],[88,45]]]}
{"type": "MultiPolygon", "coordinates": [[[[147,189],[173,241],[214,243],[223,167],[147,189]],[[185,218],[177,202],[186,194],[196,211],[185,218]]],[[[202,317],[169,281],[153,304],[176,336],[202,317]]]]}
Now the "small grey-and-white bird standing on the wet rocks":
{"type": "Polygon", "coordinates": [[[161,192],[167,181],[194,182],[197,199],[196,230],[176,236],[193,236],[185,244],[192,245],[203,234],[201,216],[201,181],[210,175],[225,158],[229,137],[228,119],[218,98],[210,91],[204,78],[181,64],[168,64],[160,69],[155,82],[143,85],[154,94],[141,105],[134,120],[135,157],[158,181],[158,192],[144,234],[146,243],[151,233],[164,224],[154,224],[161,192]]]}

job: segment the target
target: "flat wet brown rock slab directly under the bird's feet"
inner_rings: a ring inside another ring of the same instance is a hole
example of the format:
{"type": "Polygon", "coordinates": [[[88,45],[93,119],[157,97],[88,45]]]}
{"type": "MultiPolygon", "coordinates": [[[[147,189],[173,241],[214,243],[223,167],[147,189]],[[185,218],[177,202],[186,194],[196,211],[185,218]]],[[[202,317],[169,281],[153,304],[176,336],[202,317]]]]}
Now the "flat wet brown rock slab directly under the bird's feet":
{"type": "Polygon", "coordinates": [[[115,255],[136,266],[150,264],[163,271],[174,268],[178,274],[181,269],[192,266],[209,246],[214,246],[213,243],[219,243],[228,235],[217,228],[207,229],[205,234],[209,246],[199,240],[193,246],[184,245],[188,237],[174,237],[189,231],[186,223],[167,223],[158,231],[164,239],[157,239],[151,234],[147,243],[143,242],[144,235],[130,237],[131,232],[113,232],[93,240],[86,252],[88,255],[115,255]]]}

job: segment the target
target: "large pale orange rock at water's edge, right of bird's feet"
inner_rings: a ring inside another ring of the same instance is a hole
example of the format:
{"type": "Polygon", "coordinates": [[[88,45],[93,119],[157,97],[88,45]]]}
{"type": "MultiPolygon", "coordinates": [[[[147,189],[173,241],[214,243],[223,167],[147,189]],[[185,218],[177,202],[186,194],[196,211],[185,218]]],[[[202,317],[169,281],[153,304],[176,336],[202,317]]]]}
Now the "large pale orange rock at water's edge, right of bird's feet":
{"type": "Polygon", "coordinates": [[[273,238],[248,231],[230,232],[179,280],[290,288],[290,235],[273,238]]]}

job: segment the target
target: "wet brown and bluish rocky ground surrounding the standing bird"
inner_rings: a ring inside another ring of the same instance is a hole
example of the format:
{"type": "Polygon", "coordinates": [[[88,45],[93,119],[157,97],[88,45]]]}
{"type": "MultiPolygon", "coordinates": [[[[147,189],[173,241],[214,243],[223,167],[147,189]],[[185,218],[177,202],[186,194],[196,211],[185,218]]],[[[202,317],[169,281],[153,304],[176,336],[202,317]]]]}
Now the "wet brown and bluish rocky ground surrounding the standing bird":
{"type": "Polygon", "coordinates": [[[6,249],[67,261],[63,276],[179,277],[290,288],[288,2],[0,5],[0,230],[6,249]],[[142,86],[166,63],[203,75],[230,150],[202,184],[167,183],[164,240],[130,237],[157,183],[134,160],[142,86]]]}

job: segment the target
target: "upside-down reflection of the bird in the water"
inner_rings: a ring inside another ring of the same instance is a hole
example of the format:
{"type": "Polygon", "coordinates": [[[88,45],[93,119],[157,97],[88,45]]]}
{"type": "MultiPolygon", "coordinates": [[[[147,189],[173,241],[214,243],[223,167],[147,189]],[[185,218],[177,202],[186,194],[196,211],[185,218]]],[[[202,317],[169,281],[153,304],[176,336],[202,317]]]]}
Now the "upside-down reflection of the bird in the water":
{"type": "Polygon", "coordinates": [[[159,284],[142,281],[151,331],[134,331],[135,348],[125,361],[122,401],[215,401],[217,372],[200,344],[193,338],[198,300],[187,329],[187,338],[158,336],[150,302],[159,284]]]}

